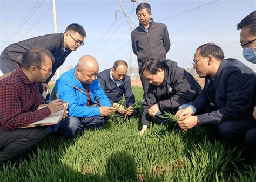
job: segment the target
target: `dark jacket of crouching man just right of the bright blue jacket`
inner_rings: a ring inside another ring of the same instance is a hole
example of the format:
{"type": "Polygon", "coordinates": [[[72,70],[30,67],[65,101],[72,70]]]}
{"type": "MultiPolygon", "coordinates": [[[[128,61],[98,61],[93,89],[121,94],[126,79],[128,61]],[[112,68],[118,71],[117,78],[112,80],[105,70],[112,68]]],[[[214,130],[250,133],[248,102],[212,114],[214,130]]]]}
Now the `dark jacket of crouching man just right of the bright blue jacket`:
{"type": "Polygon", "coordinates": [[[132,106],[135,103],[135,97],[132,93],[131,79],[128,75],[125,75],[122,85],[117,87],[116,83],[110,78],[111,69],[106,69],[98,74],[97,79],[100,82],[100,86],[109,97],[110,103],[117,103],[125,95],[126,106],[132,106]]]}

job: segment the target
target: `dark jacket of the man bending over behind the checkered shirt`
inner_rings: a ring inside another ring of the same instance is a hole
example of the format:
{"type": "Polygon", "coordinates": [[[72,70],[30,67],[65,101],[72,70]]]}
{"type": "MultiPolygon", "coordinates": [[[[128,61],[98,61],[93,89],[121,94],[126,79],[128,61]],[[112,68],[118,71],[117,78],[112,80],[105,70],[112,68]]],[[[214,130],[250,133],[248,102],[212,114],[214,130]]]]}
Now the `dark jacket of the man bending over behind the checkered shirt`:
{"type": "Polygon", "coordinates": [[[48,83],[51,80],[56,70],[71,53],[71,50],[64,51],[64,38],[62,33],[33,37],[11,44],[4,49],[2,52],[2,59],[10,71],[13,71],[16,67],[21,65],[22,55],[31,48],[45,48],[46,50],[49,50],[55,58],[55,62],[52,65],[53,74],[45,81],[45,83],[48,83]]]}

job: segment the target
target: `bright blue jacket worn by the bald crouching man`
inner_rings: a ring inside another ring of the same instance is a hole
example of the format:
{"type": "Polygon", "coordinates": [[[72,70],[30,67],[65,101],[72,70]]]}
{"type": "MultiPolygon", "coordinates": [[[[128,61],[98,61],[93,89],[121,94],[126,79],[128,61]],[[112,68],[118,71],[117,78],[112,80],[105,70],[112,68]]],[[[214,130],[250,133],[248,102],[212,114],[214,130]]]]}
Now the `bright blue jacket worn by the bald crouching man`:
{"type": "MultiPolygon", "coordinates": [[[[77,80],[74,75],[75,69],[76,67],[60,76],[55,84],[55,88],[52,90],[51,97],[54,98],[57,92],[59,99],[62,99],[64,102],[69,102],[69,116],[99,116],[100,112],[98,106],[86,106],[87,94],[82,83],[77,80]]],[[[89,85],[89,93],[91,102],[97,104],[97,98],[100,106],[111,106],[109,98],[107,98],[106,94],[103,92],[97,79],[89,85]]]]}

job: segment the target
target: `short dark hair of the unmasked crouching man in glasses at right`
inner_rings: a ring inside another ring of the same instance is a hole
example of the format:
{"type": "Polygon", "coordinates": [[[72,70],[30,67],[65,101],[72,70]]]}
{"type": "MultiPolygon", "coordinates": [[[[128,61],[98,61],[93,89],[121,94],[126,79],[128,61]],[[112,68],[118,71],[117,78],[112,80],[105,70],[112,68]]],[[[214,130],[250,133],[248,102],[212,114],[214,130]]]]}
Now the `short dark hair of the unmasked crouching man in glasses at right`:
{"type": "Polygon", "coordinates": [[[202,57],[211,55],[212,57],[217,59],[221,59],[221,60],[224,59],[223,50],[219,46],[215,45],[214,43],[203,44],[197,48],[196,52],[198,50],[200,50],[200,55],[202,57]]]}

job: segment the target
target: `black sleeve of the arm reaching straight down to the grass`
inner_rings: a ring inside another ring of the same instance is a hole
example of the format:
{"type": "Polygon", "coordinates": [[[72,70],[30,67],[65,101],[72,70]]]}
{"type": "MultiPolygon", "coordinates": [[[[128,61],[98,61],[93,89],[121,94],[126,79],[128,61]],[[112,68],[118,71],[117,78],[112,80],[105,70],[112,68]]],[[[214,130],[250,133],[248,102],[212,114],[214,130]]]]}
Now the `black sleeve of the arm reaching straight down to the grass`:
{"type": "Polygon", "coordinates": [[[149,88],[145,101],[143,102],[143,113],[142,113],[142,125],[150,126],[152,117],[149,115],[149,108],[157,103],[156,97],[153,94],[153,90],[149,88]]]}

